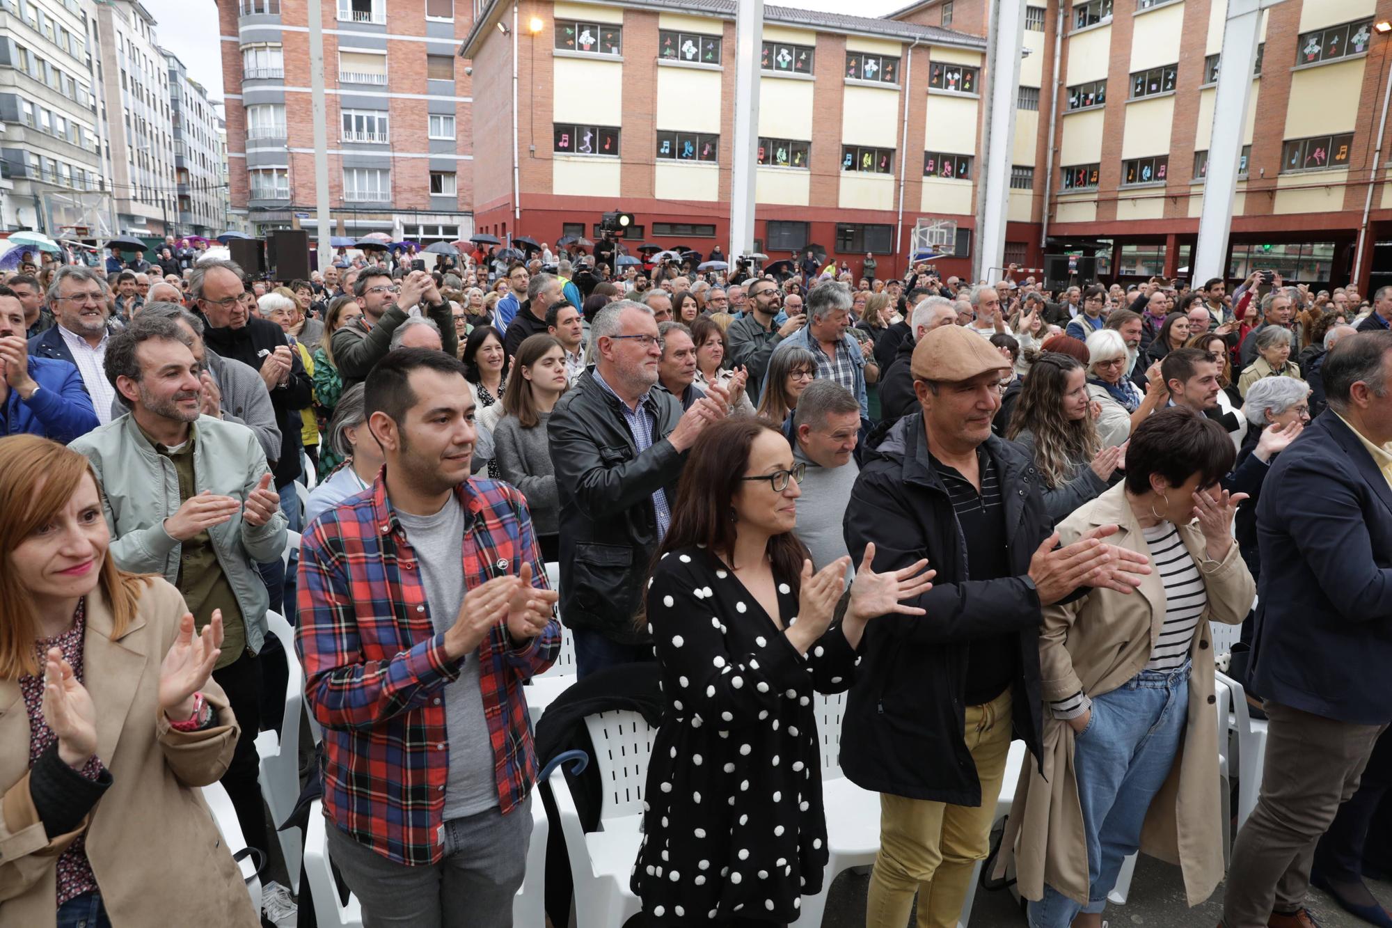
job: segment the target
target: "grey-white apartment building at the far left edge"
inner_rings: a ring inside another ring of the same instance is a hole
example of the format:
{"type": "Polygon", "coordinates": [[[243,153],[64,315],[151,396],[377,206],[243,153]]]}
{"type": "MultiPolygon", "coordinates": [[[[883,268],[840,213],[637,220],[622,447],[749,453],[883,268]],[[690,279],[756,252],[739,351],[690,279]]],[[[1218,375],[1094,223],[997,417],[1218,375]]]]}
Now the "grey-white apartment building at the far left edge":
{"type": "Polygon", "coordinates": [[[90,0],[0,0],[0,229],[107,235],[90,0]]]}

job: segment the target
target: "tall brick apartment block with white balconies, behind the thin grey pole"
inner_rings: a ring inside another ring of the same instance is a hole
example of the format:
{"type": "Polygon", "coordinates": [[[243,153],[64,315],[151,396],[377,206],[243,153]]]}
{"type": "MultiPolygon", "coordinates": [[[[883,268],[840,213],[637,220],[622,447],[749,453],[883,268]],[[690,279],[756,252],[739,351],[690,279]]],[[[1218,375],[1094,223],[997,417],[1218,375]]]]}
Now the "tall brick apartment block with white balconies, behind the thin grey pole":
{"type": "MultiPolygon", "coordinates": [[[[319,0],[334,234],[473,234],[466,0],[319,0]]],[[[231,209],[249,230],[310,226],[306,0],[220,0],[231,209]]],[[[496,144],[490,127],[480,135],[496,144]]]]}

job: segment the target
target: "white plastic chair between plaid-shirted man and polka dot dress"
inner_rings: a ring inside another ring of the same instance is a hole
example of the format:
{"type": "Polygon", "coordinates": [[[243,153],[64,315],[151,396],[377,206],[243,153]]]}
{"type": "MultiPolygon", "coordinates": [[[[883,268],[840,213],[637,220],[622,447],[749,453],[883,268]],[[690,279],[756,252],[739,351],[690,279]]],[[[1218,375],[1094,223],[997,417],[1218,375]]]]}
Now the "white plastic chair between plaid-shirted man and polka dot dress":
{"type": "Polygon", "coordinates": [[[551,772],[548,783],[571,861],[575,925],[614,928],[642,907],[628,883],[642,843],[643,789],[657,729],[638,712],[619,711],[586,716],[585,727],[594,744],[601,782],[600,829],[586,833],[580,828],[571,787],[560,766],[551,772]]]}

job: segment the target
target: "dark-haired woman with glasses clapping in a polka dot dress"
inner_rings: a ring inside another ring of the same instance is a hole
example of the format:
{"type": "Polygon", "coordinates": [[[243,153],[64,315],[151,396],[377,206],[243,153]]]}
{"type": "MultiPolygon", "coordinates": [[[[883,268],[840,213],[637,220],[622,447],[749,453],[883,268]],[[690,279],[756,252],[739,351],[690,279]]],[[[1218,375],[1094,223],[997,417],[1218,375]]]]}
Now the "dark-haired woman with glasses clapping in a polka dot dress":
{"type": "Polygon", "coordinates": [[[759,419],[717,422],[692,446],[646,592],[665,709],[647,768],[631,881],[647,924],[796,921],[821,889],[817,693],[851,686],[866,623],[922,616],[926,560],[871,569],[832,621],[849,557],[816,574],[793,532],[803,465],[759,419]]]}

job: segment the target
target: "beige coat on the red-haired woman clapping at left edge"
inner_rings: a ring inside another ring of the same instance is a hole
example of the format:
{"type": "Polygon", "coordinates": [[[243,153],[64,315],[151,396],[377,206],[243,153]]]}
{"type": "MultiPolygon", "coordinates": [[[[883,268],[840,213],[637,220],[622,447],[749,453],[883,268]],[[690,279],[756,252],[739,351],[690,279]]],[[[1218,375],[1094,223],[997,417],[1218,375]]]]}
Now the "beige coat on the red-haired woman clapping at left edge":
{"type": "Polygon", "coordinates": [[[159,711],[160,663],[184,598],[152,577],[135,619],[111,638],[111,609],[88,596],[84,683],[96,706],[97,757],[111,786],[82,825],[52,842],[29,797],[29,716],[18,680],[0,680],[0,928],[57,922],[58,856],[86,829],[86,854],[113,928],[255,928],[251,896],[196,786],[232,759],[237,719],[223,690],[203,695],[221,725],[182,734],[159,711]]]}

